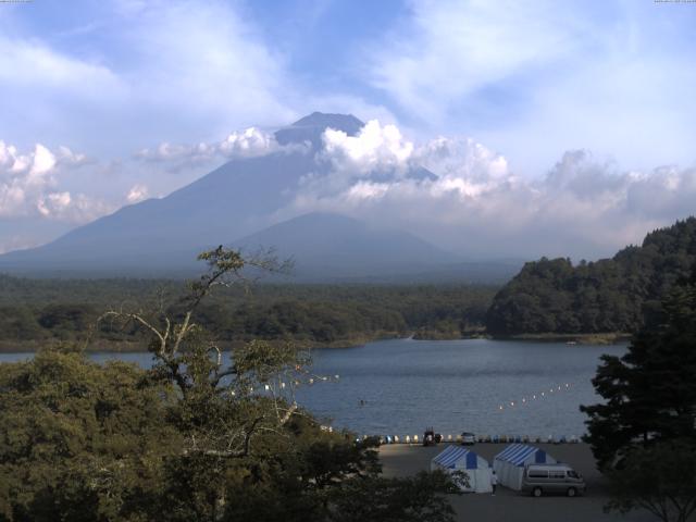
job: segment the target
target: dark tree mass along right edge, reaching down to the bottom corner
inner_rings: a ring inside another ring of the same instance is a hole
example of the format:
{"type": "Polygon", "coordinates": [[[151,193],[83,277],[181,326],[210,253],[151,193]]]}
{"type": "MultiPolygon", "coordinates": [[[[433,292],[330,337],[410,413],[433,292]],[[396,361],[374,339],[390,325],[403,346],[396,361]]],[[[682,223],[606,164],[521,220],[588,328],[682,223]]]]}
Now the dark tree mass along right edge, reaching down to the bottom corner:
{"type": "Polygon", "coordinates": [[[664,522],[696,510],[696,265],[670,290],[623,357],[604,356],[593,384],[605,401],[583,406],[608,509],[643,508],[664,522]]]}

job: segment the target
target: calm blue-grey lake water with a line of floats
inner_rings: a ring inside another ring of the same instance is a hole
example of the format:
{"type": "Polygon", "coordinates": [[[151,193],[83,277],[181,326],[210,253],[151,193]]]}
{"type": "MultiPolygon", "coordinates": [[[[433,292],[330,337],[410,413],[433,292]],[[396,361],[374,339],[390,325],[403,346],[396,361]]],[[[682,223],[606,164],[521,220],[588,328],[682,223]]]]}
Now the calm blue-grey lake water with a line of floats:
{"type": "MultiPolygon", "coordinates": [[[[452,435],[580,436],[585,417],[579,406],[598,401],[591,380],[599,356],[624,351],[620,345],[487,339],[396,339],[315,349],[313,371],[339,380],[301,388],[297,398],[320,419],[359,434],[422,436],[432,425],[452,435]]],[[[27,357],[1,353],[0,361],[27,357]]],[[[151,362],[149,353],[90,357],[142,366],[151,362]]]]}

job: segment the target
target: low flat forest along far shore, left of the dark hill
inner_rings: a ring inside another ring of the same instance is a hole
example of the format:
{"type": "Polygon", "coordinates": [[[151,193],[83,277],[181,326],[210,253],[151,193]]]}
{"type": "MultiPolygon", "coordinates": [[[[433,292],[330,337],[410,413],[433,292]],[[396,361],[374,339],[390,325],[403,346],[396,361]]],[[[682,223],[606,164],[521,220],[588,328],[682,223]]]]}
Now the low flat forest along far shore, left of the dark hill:
{"type": "MultiPolygon", "coordinates": [[[[196,321],[225,341],[288,339],[322,346],[415,335],[457,338],[483,328],[493,286],[272,285],[221,288],[196,321]]],[[[33,349],[83,339],[108,309],[176,312],[181,281],[28,279],[0,276],[0,346],[33,349]]],[[[130,346],[132,331],[109,322],[92,348],[130,346]]]]}

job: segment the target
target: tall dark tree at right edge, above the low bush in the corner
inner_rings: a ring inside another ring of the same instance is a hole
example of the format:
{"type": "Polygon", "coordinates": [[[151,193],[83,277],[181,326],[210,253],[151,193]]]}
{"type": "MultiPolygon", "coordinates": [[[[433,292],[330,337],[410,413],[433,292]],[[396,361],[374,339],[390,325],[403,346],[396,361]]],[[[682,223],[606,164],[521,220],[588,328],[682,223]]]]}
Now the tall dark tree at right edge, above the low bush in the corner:
{"type": "Polygon", "coordinates": [[[635,446],[696,440],[696,272],[683,279],[621,358],[604,356],[593,384],[605,403],[584,406],[601,469],[635,446]]]}

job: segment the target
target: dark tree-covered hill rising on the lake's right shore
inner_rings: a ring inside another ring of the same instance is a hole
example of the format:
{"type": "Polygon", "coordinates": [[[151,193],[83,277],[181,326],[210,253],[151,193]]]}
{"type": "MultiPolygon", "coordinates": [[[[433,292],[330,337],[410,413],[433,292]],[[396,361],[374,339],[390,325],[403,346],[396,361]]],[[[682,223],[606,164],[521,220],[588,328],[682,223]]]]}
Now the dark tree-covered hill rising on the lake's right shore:
{"type": "Polygon", "coordinates": [[[635,332],[696,262],[696,219],[648,234],[611,259],[526,263],[495,297],[494,335],[635,332]]]}

